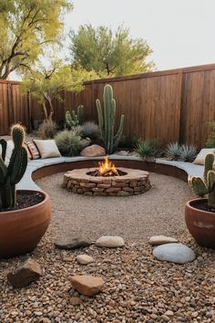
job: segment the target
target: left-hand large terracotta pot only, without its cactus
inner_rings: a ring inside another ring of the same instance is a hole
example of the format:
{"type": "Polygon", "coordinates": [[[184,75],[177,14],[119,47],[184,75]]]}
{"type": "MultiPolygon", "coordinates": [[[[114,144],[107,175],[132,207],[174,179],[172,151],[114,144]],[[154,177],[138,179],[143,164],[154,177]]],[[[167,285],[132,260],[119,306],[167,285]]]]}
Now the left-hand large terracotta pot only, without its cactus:
{"type": "Polygon", "coordinates": [[[44,195],[41,203],[22,210],[0,212],[0,257],[31,252],[46,233],[51,218],[51,204],[45,192],[39,193],[44,195]]]}

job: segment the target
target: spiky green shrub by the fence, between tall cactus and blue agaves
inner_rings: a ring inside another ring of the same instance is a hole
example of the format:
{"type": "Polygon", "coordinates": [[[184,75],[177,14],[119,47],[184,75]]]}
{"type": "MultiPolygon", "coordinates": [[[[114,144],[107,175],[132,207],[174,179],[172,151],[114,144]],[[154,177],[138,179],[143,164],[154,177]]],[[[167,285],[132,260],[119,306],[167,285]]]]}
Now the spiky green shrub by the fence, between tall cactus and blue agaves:
{"type": "Polygon", "coordinates": [[[160,155],[160,142],[159,139],[146,139],[145,141],[139,140],[135,150],[142,158],[146,157],[159,157],[160,155]]]}

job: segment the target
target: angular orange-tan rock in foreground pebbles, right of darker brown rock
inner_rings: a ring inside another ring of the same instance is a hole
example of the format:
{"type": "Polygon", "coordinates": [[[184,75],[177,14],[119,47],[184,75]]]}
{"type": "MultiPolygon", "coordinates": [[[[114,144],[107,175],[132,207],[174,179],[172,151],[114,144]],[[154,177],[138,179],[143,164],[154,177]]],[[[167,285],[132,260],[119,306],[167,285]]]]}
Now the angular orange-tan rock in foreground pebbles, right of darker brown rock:
{"type": "Polygon", "coordinates": [[[102,290],[104,280],[97,276],[72,276],[70,278],[72,287],[77,289],[78,293],[87,297],[93,296],[102,290]]]}

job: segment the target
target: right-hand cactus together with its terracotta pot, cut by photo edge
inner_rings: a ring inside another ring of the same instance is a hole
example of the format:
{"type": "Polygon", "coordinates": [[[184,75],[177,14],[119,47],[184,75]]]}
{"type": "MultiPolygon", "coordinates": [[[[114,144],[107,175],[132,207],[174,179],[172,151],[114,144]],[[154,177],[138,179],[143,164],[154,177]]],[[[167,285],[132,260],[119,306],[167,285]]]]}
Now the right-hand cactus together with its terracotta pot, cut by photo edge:
{"type": "Polygon", "coordinates": [[[215,249],[215,172],[213,171],[214,154],[205,158],[203,179],[193,176],[189,185],[200,196],[189,201],[185,209],[185,221],[189,233],[199,245],[215,249]]]}

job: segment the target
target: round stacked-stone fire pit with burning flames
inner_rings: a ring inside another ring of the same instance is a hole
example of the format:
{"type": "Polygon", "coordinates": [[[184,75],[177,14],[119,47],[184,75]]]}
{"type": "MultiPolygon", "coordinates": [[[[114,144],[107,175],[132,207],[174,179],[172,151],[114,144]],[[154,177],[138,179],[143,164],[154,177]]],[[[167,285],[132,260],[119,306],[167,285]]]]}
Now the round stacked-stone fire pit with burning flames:
{"type": "Polygon", "coordinates": [[[66,172],[63,186],[73,193],[90,196],[138,195],[150,189],[148,172],[116,167],[105,158],[97,168],[66,172]]]}

